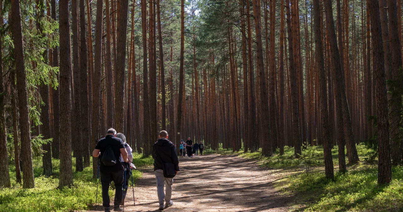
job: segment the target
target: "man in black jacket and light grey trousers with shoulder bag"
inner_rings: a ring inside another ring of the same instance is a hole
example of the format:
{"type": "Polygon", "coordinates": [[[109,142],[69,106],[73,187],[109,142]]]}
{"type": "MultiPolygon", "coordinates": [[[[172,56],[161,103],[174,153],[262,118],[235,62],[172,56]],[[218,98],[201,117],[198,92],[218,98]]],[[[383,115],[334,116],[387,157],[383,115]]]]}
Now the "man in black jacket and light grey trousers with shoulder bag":
{"type": "Polygon", "coordinates": [[[175,171],[179,171],[178,155],[175,151],[175,146],[168,140],[168,132],[162,130],[160,132],[160,139],[154,143],[152,147],[152,157],[154,158],[154,174],[157,180],[157,194],[160,204],[159,210],[164,210],[164,199],[166,207],[172,206],[172,183],[173,178],[164,177],[163,163],[173,163],[175,171]],[[164,193],[164,184],[166,185],[166,192],[164,193]]]}

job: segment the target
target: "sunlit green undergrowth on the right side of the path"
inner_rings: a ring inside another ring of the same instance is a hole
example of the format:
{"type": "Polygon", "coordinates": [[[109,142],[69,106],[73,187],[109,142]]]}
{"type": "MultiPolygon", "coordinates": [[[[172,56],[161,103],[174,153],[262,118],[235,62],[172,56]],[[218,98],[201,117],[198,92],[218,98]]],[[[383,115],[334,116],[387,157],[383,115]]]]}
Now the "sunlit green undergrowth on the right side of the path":
{"type": "MultiPolygon", "coordinates": [[[[206,150],[207,154],[236,154],[243,158],[258,161],[261,166],[270,169],[283,169],[289,172],[276,185],[284,195],[295,198],[292,208],[294,211],[403,211],[403,166],[393,167],[393,180],[389,185],[377,184],[377,162],[368,164],[363,161],[366,146],[357,145],[361,162],[347,164],[347,173],[338,172],[338,148],[332,149],[334,164],[334,181],[324,175],[323,148],[308,146],[302,151],[300,158],[294,157],[294,149],[286,146],[284,155],[279,155],[277,149],[273,156],[262,156],[260,151],[244,153],[232,150],[206,150]],[[301,171],[303,170],[303,171],[301,171]],[[297,171],[297,172],[295,172],[297,171]],[[296,174],[295,174],[296,173],[296,174]]],[[[346,158],[346,161],[347,158],[346,158]]]]}

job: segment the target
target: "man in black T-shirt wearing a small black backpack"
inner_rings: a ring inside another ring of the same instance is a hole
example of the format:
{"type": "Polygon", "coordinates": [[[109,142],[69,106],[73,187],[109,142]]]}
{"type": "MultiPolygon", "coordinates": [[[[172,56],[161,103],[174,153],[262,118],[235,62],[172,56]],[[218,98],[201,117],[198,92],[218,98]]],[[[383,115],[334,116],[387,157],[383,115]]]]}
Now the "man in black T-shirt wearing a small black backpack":
{"type": "Polygon", "coordinates": [[[110,199],[109,199],[109,184],[113,180],[116,188],[114,199],[114,210],[122,211],[119,204],[123,198],[123,175],[124,168],[121,162],[120,155],[125,162],[127,159],[127,150],[122,139],[116,138],[116,130],[110,128],[106,132],[105,138],[101,138],[95,149],[92,152],[92,156],[100,156],[100,173],[102,184],[102,200],[105,208],[105,212],[110,212],[110,199]]]}

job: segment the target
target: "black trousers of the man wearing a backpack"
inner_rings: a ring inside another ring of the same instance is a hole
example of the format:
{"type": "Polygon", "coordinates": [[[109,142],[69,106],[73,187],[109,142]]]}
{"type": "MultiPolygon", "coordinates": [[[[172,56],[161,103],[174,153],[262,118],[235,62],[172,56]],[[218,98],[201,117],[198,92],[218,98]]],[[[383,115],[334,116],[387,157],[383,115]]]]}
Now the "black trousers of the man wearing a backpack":
{"type": "Polygon", "coordinates": [[[115,183],[116,193],[114,199],[114,206],[119,206],[120,202],[122,202],[123,198],[123,169],[114,172],[101,172],[101,184],[102,184],[102,201],[104,202],[102,206],[105,208],[110,207],[110,199],[109,199],[109,185],[110,182],[115,183]]]}

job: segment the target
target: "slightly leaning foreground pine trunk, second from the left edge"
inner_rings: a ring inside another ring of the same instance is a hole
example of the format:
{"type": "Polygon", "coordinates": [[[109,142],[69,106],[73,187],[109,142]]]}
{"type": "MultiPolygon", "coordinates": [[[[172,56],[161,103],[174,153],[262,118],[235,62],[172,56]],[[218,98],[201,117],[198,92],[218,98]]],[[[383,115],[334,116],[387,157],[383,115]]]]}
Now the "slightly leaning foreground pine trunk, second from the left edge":
{"type": "Polygon", "coordinates": [[[23,33],[21,27],[20,1],[11,1],[12,37],[14,43],[15,70],[17,73],[17,91],[19,98],[21,126],[21,154],[23,163],[23,188],[35,187],[33,178],[31,136],[29,133],[29,111],[27,94],[27,77],[24,66],[23,33]]]}

